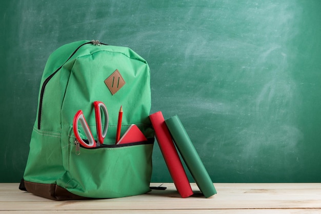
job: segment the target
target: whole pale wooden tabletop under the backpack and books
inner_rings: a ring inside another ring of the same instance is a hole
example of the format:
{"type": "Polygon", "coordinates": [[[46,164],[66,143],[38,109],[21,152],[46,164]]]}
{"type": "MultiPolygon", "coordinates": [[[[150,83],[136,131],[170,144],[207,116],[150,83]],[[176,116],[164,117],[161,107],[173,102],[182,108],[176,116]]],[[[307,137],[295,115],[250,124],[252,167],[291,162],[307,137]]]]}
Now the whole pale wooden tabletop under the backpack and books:
{"type": "MultiPolygon", "coordinates": [[[[158,186],[152,183],[151,186],[158,186]]],[[[321,183],[215,183],[217,194],[180,198],[174,184],[140,196],[85,201],[52,201],[0,183],[0,214],[16,213],[321,213],[321,183]]]]}

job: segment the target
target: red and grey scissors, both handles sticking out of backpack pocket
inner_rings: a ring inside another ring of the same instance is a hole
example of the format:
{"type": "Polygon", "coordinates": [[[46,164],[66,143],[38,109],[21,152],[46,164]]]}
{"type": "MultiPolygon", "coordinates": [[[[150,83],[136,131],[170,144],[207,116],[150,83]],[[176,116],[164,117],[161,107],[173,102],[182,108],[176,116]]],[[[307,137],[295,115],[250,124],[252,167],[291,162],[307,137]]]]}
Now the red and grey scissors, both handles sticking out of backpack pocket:
{"type": "Polygon", "coordinates": [[[73,118],[72,126],[73,126],[73,132],[75,134],[75,137],[76,137],[77,141],[86,148],[92,148],[92,147],[96,147],[96,146],[103,144],[104,139],[106,137],[107,129],[108,129],[108,111],[107,111],[105,104],[100,101],[95,101],[94,102],[94,109],[95,109],[95,119],[96,119],[97,138],[98,138],[97,143],[96,143],[96,141],[90,131],[90,128],[87,124],[87,121],[85,119],[83,111],[82,110],[77,111],[77,113],[75,114],[75,116],[73,118]],[[103,130],[103,126],[102,126],[101,109],[103,110],[104,116],[105,116],[104,130],[103,130]],[[82,128],[84,129],[85,135],[88,139],[88,143],[85,142],[79,135],[78,122],[81,123],[82,128]]]}

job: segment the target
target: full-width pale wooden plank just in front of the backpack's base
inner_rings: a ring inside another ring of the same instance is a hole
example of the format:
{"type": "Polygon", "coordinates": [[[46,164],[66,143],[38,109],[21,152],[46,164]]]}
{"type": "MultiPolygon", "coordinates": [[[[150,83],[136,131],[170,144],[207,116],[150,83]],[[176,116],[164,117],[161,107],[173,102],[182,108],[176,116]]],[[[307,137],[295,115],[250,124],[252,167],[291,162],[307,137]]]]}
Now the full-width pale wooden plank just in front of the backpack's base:
{"type": "Polygon", "coordinates": [[[160,202],[142,202],[142,201],[68,201],[68,202],[22,202],[17,205],[16,202],[1,202],[1,210],[157,210],[157,209],[275,209],[275,208],[319,208],[321,201],[298,201],[298,200],[269,200],[269,201],[160,201],[160,202]]]}

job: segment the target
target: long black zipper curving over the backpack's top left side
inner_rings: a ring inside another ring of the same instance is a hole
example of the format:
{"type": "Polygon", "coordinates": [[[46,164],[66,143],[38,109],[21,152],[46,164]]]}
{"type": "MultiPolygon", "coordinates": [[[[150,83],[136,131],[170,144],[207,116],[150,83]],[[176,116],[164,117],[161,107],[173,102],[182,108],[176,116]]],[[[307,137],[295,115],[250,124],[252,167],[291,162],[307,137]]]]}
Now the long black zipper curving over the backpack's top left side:
{"type": "MultiPolygon", "coordinates": [[[[76,50],[69,56],[68,60],[70,60],[70,58],[79,50],[79,48],[81,48],[84,45],[87,44],[93,44],[95,46],[100,46],[100,45],[107,45],[104,43],[100,43],[98,40],[92,40],[90,42],[84,43],[81,46],[77,47],[76,50]]],[[[45,89],[46,89],[46,85],[48,84],[48,82],[52,79],[52,77],[68,62],[68,60],[66,60],[65,63],[63,63],[62,66],[60,66],[57,70],[55,70],[50,76],[47,77],[47,79],[44,81],[42,87],[41,87],[41,92],[40,92],[40,99],[39,99],[39,109],[38,109],[38,129],[40,129],[40,124],[41,124],[41,114],[42,114],[42,109],[43,109],[43,98],[44,98],[44,93],[45,93],[45,89]]]]}

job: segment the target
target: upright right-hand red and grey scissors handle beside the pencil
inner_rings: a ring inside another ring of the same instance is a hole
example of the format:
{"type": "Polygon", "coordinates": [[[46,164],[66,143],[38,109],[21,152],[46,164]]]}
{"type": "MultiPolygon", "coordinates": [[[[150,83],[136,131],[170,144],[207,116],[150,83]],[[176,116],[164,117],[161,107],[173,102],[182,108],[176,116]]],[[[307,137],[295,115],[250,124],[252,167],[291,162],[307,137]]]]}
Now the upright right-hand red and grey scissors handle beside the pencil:
{"type": "Polygon", "coordinates": [[[108,111],[103,102],[100,101],[95,101],[94,102],[94,109],[95,109],[95,118],[96,118],[96,128],[97,128],[97,137],[98,137],[98,142],[100,144],[104,143],[104,139],[106,137],[107,129],[108,129],[108,111]],[[102,114],[101,114],[101,109],[104,112],[104,117],[105,117],[105,124],[104,124],[104,130],[102,126],[102,114]]]}

